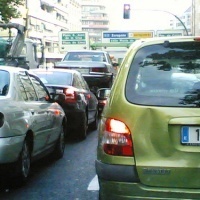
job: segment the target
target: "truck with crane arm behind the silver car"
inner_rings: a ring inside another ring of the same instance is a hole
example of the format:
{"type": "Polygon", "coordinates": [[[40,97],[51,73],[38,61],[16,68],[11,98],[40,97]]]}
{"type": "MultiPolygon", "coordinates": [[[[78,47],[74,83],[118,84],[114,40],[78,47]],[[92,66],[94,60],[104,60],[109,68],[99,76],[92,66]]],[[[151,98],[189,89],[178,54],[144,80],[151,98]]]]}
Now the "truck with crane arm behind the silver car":
{"type": "Polygon", "coordinates": [[[0,65],[38,68],[44,61],[43,52],[42,41],[26,38],[25,26],[0,23],[0,65]]]}

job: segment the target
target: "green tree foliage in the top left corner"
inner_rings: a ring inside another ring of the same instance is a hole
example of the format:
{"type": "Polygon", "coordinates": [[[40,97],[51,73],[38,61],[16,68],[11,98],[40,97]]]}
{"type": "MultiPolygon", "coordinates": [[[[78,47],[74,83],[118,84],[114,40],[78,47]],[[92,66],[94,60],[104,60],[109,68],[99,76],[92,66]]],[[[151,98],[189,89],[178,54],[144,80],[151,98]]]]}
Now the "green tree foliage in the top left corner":
{"type": "Polygon", "coordinates": [[[25,0],[0,0],[1,21],[7,23],[12,18],[20,17],[21,13],[18,8],[23,5],[25,5],[25,0]]]}

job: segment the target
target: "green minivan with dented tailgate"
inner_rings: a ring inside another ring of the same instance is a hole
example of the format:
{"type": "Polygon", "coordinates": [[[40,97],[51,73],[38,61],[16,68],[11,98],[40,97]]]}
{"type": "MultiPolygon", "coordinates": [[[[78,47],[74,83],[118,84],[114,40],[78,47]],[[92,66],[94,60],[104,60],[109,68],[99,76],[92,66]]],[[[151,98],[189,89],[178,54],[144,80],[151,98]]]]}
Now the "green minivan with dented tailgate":
{"type": "Polygon", "coordinates": [[[101,200],[200,199],[200,37],[132,44],[101,116],[95,167],[101,200]]]}

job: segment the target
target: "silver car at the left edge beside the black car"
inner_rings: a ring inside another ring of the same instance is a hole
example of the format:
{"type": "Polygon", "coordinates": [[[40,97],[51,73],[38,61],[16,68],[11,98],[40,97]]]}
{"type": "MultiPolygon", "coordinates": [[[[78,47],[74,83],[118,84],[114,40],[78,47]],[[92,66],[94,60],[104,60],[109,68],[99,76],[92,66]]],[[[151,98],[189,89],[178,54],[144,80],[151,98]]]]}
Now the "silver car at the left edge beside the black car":
{"type": "Polygon", "coordinates": [[[24,183],[31,162],[65,148],[66,117],[37,76],[28,70],[0,67],[0,167],[24,183]],[[5,167],[6,166],[6,167],[5,167]]]}

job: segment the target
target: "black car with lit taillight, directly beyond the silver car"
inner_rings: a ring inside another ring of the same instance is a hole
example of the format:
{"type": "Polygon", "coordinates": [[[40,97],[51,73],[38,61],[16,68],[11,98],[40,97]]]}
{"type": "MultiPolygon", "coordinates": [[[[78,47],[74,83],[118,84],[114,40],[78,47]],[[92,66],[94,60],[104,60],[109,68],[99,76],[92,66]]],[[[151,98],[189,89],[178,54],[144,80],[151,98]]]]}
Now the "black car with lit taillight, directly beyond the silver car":
{"type": "Polygon", "coordinates": [[[53,68],[32,71],[45,84],[50,94],[65,94],[65,101],[59,103],[67,116],[70,131],[75,132],[80,139],[85,139],[88,128],[97,129],[98,100],[80,72],[53,68]]]}

